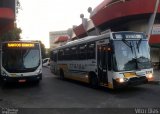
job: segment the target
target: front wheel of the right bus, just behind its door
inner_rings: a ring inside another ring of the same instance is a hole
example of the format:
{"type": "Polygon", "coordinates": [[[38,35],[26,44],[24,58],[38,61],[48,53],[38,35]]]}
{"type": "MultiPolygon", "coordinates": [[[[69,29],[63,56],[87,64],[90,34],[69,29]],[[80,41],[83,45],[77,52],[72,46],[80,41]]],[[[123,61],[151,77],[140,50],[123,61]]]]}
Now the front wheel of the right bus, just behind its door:
{"type": "Polygon", "coordinates": [[[95,73],[90,73],[90,86],[94,89],[97,89],[99,87],[99,81],[95,73]]]}

